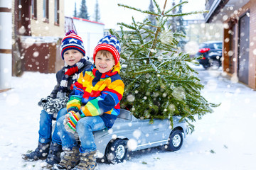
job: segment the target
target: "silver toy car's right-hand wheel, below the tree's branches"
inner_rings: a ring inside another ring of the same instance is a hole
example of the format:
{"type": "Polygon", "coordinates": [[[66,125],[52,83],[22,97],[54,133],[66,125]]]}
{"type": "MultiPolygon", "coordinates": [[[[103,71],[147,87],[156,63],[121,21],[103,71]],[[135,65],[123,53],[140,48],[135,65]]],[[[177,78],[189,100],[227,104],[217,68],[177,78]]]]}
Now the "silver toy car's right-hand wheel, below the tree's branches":
{"type": "Polygon", "coordinates": [[[181,149],[182,144],[183,144],[183,135],[181,130],[172,131],[169,137],[169,142],[167,144],[167,149],[169,151],[177,151],[178,149],[181,149]]]}

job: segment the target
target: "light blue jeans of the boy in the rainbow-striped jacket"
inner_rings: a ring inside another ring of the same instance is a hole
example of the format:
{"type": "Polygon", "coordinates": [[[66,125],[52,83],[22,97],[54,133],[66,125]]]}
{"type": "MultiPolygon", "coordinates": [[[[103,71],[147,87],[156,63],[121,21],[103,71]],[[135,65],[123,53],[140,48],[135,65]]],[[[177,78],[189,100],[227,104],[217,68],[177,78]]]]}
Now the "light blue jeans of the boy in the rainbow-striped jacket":
{"type": "MultiPolygon", "coordinates": [[[[78,147],[78,142],[75,140],[73,133],[67,132],[63,125],[65,116],[61,117],[57,121],[58,131],[60,132],[60,139],[63,148],[72,149],[78,147]]],[[[97,130],[105,129],[105,123],[100,116],[84,117],[78,120],[76,125],[76,132],[81,142],[80,152],[92,152],[96,150],[96,144],[93,133],[97,130]]]]}

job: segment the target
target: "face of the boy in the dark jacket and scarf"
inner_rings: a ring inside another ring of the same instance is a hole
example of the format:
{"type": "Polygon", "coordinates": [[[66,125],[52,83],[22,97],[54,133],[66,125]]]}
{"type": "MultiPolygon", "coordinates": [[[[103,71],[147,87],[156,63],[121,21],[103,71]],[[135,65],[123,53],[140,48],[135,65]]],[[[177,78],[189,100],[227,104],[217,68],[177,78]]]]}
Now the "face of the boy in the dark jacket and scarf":
{"type": "Polygon", "coordinates": [[[79,62],[83,57],[81,52],[73,49],[65,51],[63,56],[65,63],[69,66],[73,66],[74,64],[79,62]]]}

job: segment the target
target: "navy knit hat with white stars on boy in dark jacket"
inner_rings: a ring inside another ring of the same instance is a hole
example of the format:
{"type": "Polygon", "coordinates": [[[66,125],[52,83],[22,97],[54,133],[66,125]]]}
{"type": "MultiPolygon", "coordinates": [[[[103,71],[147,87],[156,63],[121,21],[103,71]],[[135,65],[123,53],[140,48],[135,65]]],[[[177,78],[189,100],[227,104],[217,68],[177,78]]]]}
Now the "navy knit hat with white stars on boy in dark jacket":
{"type": "Polygon", "coordinates": [[[82,38],[80,38],[80,36],[75,33],[75,30],[68,31],[68,33],[65,34],[65,37],[61,41],[60,53],[63,60],[64,52],[71,49],[78,50],[82,53],[83,56],[85,56],[85,47],[83,45],[82,38]]]}

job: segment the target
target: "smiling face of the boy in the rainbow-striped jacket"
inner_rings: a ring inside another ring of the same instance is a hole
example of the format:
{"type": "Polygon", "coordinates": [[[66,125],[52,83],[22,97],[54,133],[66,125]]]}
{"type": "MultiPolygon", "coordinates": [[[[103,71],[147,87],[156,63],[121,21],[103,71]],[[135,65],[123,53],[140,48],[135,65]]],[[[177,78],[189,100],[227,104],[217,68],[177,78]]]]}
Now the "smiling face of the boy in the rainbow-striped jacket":
{"type": "Polygon", "coordinates": [[[100,73],[105,73],[110,71],[114,67],[114,57],[112,54],[103,55],[100,52],[97,52],[95,57],[95,66],[100,73]]]}

